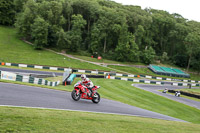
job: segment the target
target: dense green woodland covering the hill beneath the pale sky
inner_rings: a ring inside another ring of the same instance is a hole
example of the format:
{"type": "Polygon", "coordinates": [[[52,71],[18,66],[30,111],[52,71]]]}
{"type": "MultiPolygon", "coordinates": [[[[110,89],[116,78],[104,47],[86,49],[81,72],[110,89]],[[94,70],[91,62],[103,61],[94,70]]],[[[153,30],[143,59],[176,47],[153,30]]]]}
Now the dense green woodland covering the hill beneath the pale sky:
{"type": "Polygon", "coordinates": [[[0,24],[43,47],[200,71],[200,22],[110,0],[1,0],[0,24]]]}

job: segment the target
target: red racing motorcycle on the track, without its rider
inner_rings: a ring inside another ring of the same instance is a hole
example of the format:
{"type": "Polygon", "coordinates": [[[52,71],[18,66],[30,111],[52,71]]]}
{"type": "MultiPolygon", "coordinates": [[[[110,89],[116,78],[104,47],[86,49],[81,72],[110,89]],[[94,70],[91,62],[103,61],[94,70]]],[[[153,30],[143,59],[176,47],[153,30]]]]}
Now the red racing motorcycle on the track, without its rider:
{"type": "Polygon", "coordinates": [[[93,103],[99,103],[100,95],[97,92],[97,89],[99,88],[100,86],[93,86],[92,94],[91,94],[91,91],[86,86],[84,86],[83,83],[78,81],[74,85],[74,90],[71,93],[72,99],[74,99],[75,101],[78,101],[80,98],[89,99],[89,100],[92,100],[93,103]]]}

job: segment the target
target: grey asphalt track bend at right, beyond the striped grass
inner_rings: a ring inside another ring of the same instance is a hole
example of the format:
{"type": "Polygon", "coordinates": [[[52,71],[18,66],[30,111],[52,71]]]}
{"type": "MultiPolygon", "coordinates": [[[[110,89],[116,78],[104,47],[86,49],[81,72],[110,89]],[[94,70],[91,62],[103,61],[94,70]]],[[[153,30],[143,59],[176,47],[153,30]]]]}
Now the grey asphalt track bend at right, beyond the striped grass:
{"type": "Polygon", "coordinates": [[[188,106],[192,106],[192,107],[195,107],[197,109],[200,109],[200,102],[198,102],[198,101],[194,101],[194,100],[190,100],[190,99],[187,99],[187,98],[183,98],[181,96],[180,97],[176,97],[174,95],[167,94],[167,93],[162,93],[162,92],[158,91],[158,90],[164,90],[165,88],[168,88],[168,89],[171,89],[171,90],[172,89],[183,89],[184,88],[183,86],[147,85],[147,84],[133,84],[133,86],[135,86],[137,88],[140,88],[140,89],[143,89],[143,90],[146,90],[146,91],[150,91],[152,93],[155,93],[157,95],[166,97],[168,99],[171,99],[171,100],[186,104],[188,106]]]}

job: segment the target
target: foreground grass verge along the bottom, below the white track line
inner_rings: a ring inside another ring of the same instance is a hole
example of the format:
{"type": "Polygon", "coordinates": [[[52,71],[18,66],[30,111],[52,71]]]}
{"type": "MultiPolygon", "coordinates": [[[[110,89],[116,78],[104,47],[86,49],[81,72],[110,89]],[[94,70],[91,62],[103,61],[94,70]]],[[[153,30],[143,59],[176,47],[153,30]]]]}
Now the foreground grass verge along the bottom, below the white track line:
{"type": "Polygon", "coordinates": [[[199,124],[133,116],[0,107],[0,132],[197,133],[199,124]]]}

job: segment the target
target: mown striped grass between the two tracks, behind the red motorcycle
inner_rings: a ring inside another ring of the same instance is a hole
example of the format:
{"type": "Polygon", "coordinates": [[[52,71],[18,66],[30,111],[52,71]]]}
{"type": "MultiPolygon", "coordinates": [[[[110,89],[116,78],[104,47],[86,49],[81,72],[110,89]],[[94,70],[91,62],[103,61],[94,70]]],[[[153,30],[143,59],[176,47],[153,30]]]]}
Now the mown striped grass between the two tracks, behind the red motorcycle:
{"type": "MultiPolygon", "coordinates": [[[[73,85],[80,80],[76,78],[72,85],[59,85],[56,87],[41,86],[63,91],[72,91],[73,85]]],[[[137,106],[161,114],[169,115],[192,123],[200,124],[200,110],[169,100],[148,91],[131,86],[132,82],[108,79],[93,79],[95,85],[100,85],[98,90],[101,97],[137,106]]],[[[2,80],[1,80],[2,81],[2,80]]],[[[8,82],[8,81],[7,81],[8,82]]],[[[23,83],[22,83],[23,84],[23,83]]],[[[26,83],[27,85],[30,85],[26,83]]],[[[40,86],[40,85],[34,85],[40,86]]]]}

